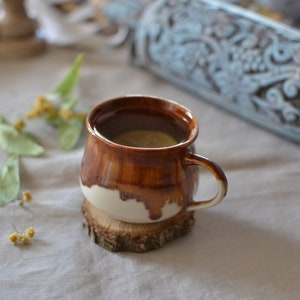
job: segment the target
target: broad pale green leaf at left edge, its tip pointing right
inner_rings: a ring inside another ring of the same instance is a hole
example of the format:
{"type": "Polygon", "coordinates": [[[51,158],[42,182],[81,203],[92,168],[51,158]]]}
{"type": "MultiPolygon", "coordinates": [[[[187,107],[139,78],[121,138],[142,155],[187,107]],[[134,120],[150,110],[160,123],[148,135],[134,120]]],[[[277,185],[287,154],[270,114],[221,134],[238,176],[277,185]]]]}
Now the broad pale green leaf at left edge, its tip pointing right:
{"type": "Polygon", "coordinates": [[[44,152],[32,136],[8,124],[0,124],[0,147],[10,154],[22,156],[39,156],[44,152]]]}

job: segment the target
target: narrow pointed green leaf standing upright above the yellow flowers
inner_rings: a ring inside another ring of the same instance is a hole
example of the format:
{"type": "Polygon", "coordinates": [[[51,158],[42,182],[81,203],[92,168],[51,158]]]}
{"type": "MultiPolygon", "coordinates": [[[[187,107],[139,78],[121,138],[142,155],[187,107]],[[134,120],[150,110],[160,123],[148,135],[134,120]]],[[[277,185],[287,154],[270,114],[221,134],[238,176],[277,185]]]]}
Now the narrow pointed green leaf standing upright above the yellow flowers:
{"type": "Polygon", "coordinates": [[[71,70],[67,73],[63,81],[58,85],[58,87],[54,90],[54,93],[60,94],[62,97],[70,96],[79,80],[80,75],[80,67],[83,62],[84,56],[79,54],[72,67],[71,70]]]}

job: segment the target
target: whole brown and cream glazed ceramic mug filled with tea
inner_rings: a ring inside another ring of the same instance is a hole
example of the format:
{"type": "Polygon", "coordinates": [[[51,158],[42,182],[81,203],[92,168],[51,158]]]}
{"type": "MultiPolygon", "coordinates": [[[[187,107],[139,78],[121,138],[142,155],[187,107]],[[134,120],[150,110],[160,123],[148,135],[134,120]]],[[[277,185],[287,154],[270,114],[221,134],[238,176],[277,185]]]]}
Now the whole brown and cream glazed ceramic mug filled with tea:
{"type": "Polygon", "coordinates": [[[141,95],[115,98],[94,107],[86,126],[81,188],[106,215],[130,223],[158,222],[225,197],[226,176],[216,163],[194,154],[198,123],[178,103],[141,95]],[[193,200],[199,166],[218,184],[215,197],[206,201],[193,200]]]}

